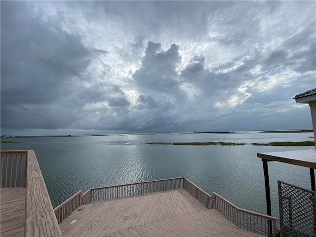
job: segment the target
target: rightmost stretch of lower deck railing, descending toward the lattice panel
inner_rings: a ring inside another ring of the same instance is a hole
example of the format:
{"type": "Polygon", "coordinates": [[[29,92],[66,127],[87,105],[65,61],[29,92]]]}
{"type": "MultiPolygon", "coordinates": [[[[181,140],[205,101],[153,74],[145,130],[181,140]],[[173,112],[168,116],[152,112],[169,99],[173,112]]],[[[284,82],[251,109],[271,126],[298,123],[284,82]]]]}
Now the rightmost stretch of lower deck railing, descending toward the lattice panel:
{"type": "Polygon", "coordinates": [[[213,193],[213,197],[214,208],[237,227],[263,236],[272,233],[276,237],[276,217],[239,208],[216,193],[213,193]],[[272,223],[272,230],[269,229],[269,223],[272,223]]]}

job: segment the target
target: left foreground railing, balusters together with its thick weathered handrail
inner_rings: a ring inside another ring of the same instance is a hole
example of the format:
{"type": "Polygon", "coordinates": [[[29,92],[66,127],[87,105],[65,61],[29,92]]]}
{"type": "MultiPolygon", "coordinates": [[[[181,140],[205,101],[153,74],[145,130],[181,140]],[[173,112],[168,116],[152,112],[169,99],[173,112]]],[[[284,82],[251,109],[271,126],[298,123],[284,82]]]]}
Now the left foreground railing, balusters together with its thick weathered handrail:
{"type": "Polygon", "coordinates": [[[24,236],[61,237],[34,151],[1,151],[0,156],[1,187],[26,188],[24,236]]]}

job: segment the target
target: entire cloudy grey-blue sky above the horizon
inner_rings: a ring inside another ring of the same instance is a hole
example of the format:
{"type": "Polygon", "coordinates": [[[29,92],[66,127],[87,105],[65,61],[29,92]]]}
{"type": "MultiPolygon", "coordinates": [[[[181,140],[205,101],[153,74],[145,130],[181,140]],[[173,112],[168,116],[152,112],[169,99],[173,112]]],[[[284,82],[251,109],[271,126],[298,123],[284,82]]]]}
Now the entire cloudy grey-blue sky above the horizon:
{"type": "Polygon", "coordinates": [[[1,135],[312,128],[315,1],[0,2],[1,135]]]}

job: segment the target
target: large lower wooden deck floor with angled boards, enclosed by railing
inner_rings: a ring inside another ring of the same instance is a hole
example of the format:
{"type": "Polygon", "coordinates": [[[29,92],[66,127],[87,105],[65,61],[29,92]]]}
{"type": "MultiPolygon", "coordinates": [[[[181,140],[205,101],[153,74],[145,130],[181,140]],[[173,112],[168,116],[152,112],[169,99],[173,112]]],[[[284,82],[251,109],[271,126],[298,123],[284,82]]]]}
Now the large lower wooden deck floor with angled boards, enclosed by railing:
{"type": "Polygon", "coordinates": [[[258,237],[184,189],[94,201],[59,224],[64,237],[258,237]]]}

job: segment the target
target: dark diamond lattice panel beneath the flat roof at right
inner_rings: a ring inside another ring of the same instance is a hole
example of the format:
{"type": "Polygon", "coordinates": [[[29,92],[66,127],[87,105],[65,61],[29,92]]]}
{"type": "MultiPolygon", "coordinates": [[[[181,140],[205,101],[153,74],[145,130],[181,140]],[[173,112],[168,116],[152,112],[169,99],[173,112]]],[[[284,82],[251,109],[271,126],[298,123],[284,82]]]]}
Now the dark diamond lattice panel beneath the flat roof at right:
{"type": "Polygon", "coordinates": [[[281,237],[316,236],[316,192],[277,181],[281,237]]]}

